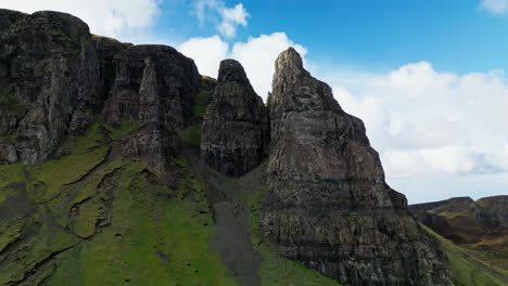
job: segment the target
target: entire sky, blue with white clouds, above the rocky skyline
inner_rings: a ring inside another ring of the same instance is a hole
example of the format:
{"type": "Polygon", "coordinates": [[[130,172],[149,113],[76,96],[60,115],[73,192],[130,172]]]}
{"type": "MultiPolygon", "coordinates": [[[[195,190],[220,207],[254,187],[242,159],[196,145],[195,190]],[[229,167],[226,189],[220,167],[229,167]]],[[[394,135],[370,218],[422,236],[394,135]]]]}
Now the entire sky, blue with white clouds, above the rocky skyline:
{"type": "Polygon", "coordinates": [[[2,0],[93,34],[173,46],[201,74],[240,61],[266,100],[288,47],[361,118],[409,204],[508,194],[508,0],[2,0]]]}

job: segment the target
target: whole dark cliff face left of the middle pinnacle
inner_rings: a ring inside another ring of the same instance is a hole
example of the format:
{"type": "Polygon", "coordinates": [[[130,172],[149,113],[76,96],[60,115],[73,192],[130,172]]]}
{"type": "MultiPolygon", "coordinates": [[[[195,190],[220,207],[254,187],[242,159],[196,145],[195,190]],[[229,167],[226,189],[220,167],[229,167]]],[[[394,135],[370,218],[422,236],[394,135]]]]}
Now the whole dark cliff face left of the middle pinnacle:
{"type": "Polygon", "coordinates": [[[0,15],[0,162],[42,162],[98,110],[112,127],[139,123],[123,144],[127,156],[161,170],[179,151],[176,131],[201,88],[192,60],[169,47],[91,36],[63,13],[0,15]]]}

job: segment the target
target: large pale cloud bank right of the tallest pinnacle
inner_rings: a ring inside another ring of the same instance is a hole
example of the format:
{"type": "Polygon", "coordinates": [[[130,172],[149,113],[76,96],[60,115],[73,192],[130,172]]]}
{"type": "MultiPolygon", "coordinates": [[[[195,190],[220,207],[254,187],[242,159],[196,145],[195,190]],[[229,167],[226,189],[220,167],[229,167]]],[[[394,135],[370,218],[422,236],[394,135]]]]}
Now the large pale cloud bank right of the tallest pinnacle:
{"type": "Polygon", "coordinates": [[[351,77],[330,83],[341,106],[364,119],[389,178],[508,171],[501,72],[456,75],[420,62],[359,74],[360,86],[351,77]]]}

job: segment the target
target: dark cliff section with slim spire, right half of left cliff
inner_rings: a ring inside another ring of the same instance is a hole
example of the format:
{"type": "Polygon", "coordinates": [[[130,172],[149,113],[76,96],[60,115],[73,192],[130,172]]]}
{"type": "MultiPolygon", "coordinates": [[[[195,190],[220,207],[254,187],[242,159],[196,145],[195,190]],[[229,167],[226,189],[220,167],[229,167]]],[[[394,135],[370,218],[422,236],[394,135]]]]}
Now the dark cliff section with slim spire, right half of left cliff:
{"type": "Polygon", "coordinates": [[[188,127],[192,116],[193,96],[201,88],[198,68],[166,46],[130,46],[114,62],[104,120],[113,127],[137,120],[140,131],[124,144],[124,154],[145,158],[162,170],[165,160],[180,150],[176,131],[188,127]]]}

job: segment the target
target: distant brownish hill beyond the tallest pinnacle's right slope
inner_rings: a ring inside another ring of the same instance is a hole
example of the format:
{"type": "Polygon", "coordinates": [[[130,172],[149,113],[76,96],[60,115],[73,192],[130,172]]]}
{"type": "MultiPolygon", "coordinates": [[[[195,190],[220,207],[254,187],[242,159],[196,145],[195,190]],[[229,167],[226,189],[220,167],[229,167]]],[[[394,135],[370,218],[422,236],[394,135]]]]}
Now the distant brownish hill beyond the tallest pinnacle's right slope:
{"type": "Polygon", "coordinates": [[[409,210],[441,236],[508,270],[508,196],[454,197],[410,205],[409,210]]]}

